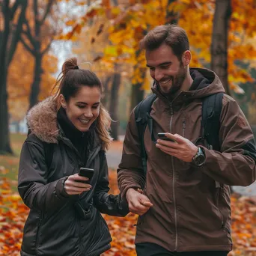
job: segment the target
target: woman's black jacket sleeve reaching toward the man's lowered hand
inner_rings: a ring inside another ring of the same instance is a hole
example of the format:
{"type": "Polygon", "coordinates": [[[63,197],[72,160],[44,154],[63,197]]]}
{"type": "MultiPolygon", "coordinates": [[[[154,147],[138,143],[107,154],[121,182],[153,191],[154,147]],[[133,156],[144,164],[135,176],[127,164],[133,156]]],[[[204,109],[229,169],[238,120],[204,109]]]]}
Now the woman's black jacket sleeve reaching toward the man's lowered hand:
{"type": "Polygon", "coordinates": [[[100,152],[100,175],[94,193],[94,205],[101,213],[111,216],[126,216],[129,207],[126,200],[122,200],[121,195],[111,195],[109,192],[109,170],[106,161],[106,154],[100,152]]]}

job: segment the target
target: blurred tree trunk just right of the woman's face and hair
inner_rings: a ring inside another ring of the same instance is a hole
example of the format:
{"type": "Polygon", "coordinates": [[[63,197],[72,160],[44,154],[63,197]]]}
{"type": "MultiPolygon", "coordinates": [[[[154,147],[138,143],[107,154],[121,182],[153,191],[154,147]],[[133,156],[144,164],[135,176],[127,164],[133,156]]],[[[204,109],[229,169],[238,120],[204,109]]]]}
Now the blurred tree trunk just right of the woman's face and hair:
{"type": "Polygon", "coordinates": [[[121,74],[118,73],[117,67],[115,67],[116,73],[113,77],[113,83],[111,88],[111,101],[109,106],[109,113],[114,121],[112,121],[111,125],[111,135],[114,138],[114,141],[118,140],[118,92],[121,85],[121,74]]]}

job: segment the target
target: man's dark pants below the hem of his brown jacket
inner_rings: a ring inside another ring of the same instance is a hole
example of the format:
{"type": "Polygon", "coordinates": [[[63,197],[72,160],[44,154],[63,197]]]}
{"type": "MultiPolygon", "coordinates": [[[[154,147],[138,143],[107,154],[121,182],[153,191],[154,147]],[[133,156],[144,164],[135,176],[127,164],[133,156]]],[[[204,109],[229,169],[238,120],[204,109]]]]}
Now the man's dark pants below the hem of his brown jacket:
{"type": "Polygon", "coordinates": [[[224,251],[203,252],[169,252],[155,243],[137,243],[136,252],[138,256],[227,256],[224,251]]]}

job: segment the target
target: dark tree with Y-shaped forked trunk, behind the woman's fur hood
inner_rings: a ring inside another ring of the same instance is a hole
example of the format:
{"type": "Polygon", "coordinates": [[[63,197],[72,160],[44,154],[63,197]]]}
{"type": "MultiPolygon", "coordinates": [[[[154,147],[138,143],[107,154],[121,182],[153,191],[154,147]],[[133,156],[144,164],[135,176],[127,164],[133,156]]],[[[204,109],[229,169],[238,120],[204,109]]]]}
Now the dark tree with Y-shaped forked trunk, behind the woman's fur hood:
{"type": "Polygon", "coordinates": [[[55,0],[33,0],[30,2],[32,12],[27,13],[25,29],[22,31],[21,41],[23,46],[25,46],[25,49],[34,57],[34,79],[31,83],[29,109],[38,102],[41,76],[43,73],[43,55],[49,51],[49,47],[55,35],[52,25],[49,24],[49,20],[47,21],[47,17],[51,14],[52,5],[54,3],[55,0]],[[30,13],[33,13],[33,20],[31,20],[32,17],[29,15],[30,13]]]}

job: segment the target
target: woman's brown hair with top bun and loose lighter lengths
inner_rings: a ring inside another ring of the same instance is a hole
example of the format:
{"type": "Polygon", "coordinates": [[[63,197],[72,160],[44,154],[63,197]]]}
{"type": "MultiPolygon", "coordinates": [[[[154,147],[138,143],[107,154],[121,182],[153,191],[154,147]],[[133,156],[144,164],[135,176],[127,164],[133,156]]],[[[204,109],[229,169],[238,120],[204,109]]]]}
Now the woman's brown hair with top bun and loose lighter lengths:
{"type": "MultiPolygon", "coordinates": [[[[64,96],[66,102],[71,97],[75,97],[82,86],[97,87],[100,89],[100,93],[103,91],[103,86],[100,79],[95,73],[90,70],[79,69],[76,58],[68,58],[62,65],[61,73],[55,82],[52,91],[56,88],[57,91],[53,95],[53,99],[57,103],[57,109],[61,108],[60,95],[64,96]]],[[[103,143],[103,150],[109,149],[109,144],[112,141],[109,135],[109,129],[112,119],[110,118],[109,112],[100,103],[100,114],[96,120],[96,131],[103,143]]]]}

